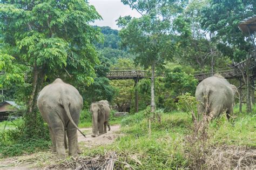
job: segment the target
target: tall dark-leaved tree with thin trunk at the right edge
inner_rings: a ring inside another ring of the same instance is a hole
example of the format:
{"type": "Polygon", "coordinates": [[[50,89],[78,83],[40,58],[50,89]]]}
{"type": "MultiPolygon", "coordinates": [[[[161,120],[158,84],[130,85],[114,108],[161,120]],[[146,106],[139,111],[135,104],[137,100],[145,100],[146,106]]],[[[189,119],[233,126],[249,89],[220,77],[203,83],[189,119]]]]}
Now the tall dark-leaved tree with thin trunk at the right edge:
{"type": "Polygon", "coordinates": [[[209,1],[202,10],[201,25],[205,30],[214,33],[214,38],[219,39],[218,49],[235,62],[246,60],[245,70],[242,69],[242,77],[246,85],[247,112],[252,112],[251,83],[250,83],[250,53],[252,43],[245,39],[239,30],[238,24],[245,18],[256,13],[256,2],[251,1],[209,1]],[[246,72],[244,75],[243,72],[246,72]],[[246,76],[246,77],[245,77],[246,76]]]}

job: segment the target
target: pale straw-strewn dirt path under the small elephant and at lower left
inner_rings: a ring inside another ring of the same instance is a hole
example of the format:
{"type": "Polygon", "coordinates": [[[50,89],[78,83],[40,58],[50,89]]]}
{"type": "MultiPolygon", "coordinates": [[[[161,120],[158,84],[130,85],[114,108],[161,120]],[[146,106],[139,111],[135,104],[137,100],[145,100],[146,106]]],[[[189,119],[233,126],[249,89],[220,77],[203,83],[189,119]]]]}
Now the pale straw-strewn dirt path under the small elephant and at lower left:
{"type": "MultiPolygon", "coordinates": [[[[91,137],[92,128],[80,128],[86,134],[86,138],[84,138],[78,132],[78,143],[82,152],[84,148],[111,144],[117,137],[122,135],[118,133],[120,125],[110,127],[110,131],[96,138],[91,137]]],[[[49,150],[47,152],[37,152],[30,155],[0,159],[0,169],[44,169],[43,167],[56,164],[56,162],[60,162],[60,160],[56,158],[56,154],[51,153],[49,150]]]]}

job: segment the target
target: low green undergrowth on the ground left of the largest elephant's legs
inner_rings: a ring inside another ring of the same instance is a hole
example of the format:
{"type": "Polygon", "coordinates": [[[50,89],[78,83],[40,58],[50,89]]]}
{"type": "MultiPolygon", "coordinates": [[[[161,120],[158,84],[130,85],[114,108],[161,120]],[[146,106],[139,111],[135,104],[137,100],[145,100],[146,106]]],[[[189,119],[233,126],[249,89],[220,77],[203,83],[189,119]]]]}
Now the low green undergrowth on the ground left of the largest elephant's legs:
{"type": "Polygon", "coordinates": [[[49,149],[51,141],[48,126],[46,124],[42,125],[42,117],[39,113],[37,115],[38,122],[30,126],[26,125],[24,118],[1,123],[0,158],[14,157],[49,149]],[[35,126],[39,127],[36,128],[35,126]]]}

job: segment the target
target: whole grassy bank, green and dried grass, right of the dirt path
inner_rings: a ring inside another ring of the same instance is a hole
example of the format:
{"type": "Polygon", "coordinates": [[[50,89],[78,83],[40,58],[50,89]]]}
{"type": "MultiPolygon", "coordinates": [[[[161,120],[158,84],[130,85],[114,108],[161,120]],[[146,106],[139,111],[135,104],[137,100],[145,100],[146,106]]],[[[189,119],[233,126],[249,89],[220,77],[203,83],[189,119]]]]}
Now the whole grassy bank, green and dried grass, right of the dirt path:
{"type": "MultiPolygon", "coordinates": [[[[190,115],[164,113],[161,123],[149,122],[143,112],[122,120],[121,133],[114,144],[84,149],[84,156],[98,157],[115,152],[116,168],[139,169],[235,168],[255,163],[256,116],[235,112],[232,123],[225,115],[213,120],[206,140],[188,140],[193,133],[190,115]],[[219,160],[218,160],[219,159],[219,160]],[[241,165],[238,165],[240,161],[241,165]],[[127,166],[128,165],[128,166],[127,166]]],[[[251,165],[250,165],[251,164],[251,165]]]]}

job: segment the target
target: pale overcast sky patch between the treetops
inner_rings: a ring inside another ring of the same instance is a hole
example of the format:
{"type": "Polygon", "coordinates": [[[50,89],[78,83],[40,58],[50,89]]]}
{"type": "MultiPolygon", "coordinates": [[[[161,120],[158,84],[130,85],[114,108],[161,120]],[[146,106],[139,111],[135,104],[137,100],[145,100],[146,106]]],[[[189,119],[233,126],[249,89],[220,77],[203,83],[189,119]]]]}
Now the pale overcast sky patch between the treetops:
{"type": "Polygon", "coordinates": [[[129,5],[124,5],[121,0],[89,0],[89,3],[95,6],[103,20],[96,21],[92,25],[110,26],[112,29],[118,29],[116,20],[122,16],[130,15],[140,17],[136,10],[132,10],[129,5]]]}

